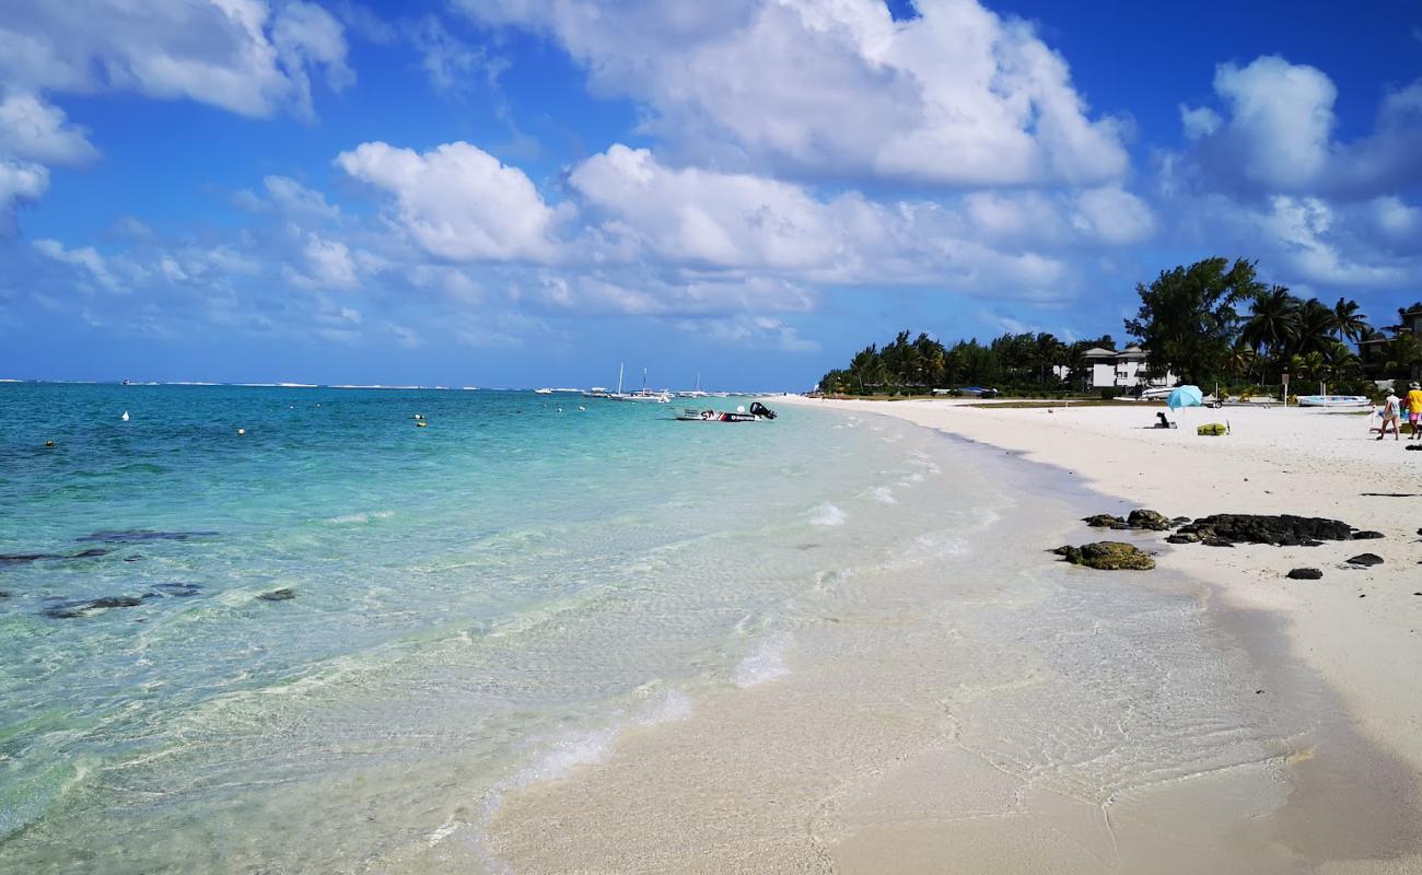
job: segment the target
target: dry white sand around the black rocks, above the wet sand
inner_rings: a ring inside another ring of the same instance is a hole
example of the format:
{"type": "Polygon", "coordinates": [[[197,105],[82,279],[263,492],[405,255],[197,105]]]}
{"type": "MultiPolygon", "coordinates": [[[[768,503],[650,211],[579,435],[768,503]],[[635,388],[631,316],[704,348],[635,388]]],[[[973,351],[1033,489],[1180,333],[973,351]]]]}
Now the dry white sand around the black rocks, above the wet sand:
{"type": "MultiPolygon", "coordinates": [[[[1146,407],[994,408],[961,401],[802,397],[781,403],[894,417],[1042,465],[1099,497],[1102,507],[1092,512],[1123,515],[1149,507],[1166,516],[1190,518],[1223,512],[1298,514],[1381,531],[1382,539],[1318,548],[1169,545],[1163,534],[1150,532],[1159,536],[1138,541],[1130,538],[1138,532],[1085,528],[1079,529],[1079,541],[1136,541],[1156,553],[1158,571],[1150,573],[1176,573],[1206,586],[1210,598],[1226,609],[1220,613],[1226,625],[1243,623],[1244,635],[1257,633],[1261,623],[1276,627],[1287,645],[1277,657],[1298,660],[1341,703],[1342,713],[1328,717],[1376,746],[1401,770],[1401,774],[1355,778],[1378,781],[1374,792],[1415,808],[1416,788],[1422,785],[1422,696],[1415,680],[1415,654],[1422,645],[1422,595],[1415,595],[1422,593],[1416,569],[1422,565],[1418,536],[1422,529],[1416,525],[1422,524],[1418,464],[1422,460],[1398,451],[1391,440],[1372,440],[1362,431],[1361,417],[1297,408],[1187,410],[1177,417],[1180,428],[1166,431],[1140,425],[1155,415],[1155,408],[1146,407]],[[1196,423],[1224,418],[1231,425],[1224,438],[1193,433],[1196,423]],[[1246,440],[1231,442],[1237,435],[1246,440]],[[1106,507],[1112,502],[1115,508],[1106,507]],[[1361,552],[1382,555],[1384,565],[1367,569],[1340,565],[1361,552]],[[1324,579],[1285,579],[1284,573],[1295,566],[1321,568],[1324,579]],[[1379,778],[1385,777],[1399,783],[1382,787],[1386,781],[1379,778]]],[[[1268,647],[1257,650],[1268,652],[1268,647]]],[[[1357,754],[1357,748],[1351,753],[1357,754]]],[[[1335,768],[1337,763],[1330,765],[1335,768]]],[[[1324,781],[1317,771],[1301,768],[1297,778],[1320,792],[1324,781]]],[[[1332,777],[1338,777],[1335,771],[1332,777]]],[[[1342,805],[1347,810],[1347,802],[1342,805]]],[[[1330,817],[1328,807],[1315,814],[1330,817]]],[[[1409,835],[1388,838],[1406,847],[1408,855],[1374,861],[1375,866],[1354,859],[1324,871],[1422,868],[1418,851],[1422,831],[1412,827],[1409,835]]]]}

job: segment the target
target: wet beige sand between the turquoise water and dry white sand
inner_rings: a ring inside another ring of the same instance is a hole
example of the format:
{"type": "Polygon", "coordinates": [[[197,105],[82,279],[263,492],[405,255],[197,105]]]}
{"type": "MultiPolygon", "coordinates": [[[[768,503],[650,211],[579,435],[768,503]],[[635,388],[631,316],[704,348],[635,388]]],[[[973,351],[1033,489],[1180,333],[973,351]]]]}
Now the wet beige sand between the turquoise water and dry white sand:
{"type": "Polygon", "coordinates": [[[1079,516],[1128,505],[990,447],[951,452],[1014,497],[1003,519],[961,555],[823,588],[788,674],[508,794],[493,865],[1422,871],[1415,765],[1295,657],[1287,615],[1165,561],[1052,562],[1086,539],[1079,516]]]}

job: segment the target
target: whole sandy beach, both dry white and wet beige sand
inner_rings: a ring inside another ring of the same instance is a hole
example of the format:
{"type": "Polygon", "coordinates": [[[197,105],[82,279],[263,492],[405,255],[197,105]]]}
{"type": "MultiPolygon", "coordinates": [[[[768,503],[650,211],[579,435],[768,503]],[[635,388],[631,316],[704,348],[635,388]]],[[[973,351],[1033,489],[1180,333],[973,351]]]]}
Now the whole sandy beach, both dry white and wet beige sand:
{"type": "Polygon", "coordinates": [[[985,444],[978,472],[1021,497],[1018,525],[984,532],[1010,565],[839,582],[784,677],[701,696],[509,794],[489,849],[513,871],[1422,871],[1422,457],[1404,442],[1284,408],[1192,410],[1167,431],[1146,405],[778,403],[985,444]],[[1216,420],[1231,434],[1194,434],[1216,420]],[[1368,495],[1396,492],[1412,495],[1368,495]],[[1062,571],[1037,558],[1061,542],[1044,538],[1116,535],[1081,526],[1082,495],[1384,538],[1122,534],[1156,571],[1062,571]],[[1362,552],[1384,563],[1344,565],[1362,552]],[[1285,579],[1295,566],[1324,576],[1285,579]]]}

